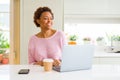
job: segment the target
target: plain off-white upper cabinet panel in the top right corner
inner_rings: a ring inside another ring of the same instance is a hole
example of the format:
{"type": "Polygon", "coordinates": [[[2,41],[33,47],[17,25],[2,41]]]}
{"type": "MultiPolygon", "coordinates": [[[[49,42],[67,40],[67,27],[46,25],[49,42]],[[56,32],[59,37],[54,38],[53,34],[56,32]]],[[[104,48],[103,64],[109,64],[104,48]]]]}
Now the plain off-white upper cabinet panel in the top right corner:
{"type": "Polygon", "coordinates": [[[120,0],[64,0],[65,14],[120,15],[120,0]]]}

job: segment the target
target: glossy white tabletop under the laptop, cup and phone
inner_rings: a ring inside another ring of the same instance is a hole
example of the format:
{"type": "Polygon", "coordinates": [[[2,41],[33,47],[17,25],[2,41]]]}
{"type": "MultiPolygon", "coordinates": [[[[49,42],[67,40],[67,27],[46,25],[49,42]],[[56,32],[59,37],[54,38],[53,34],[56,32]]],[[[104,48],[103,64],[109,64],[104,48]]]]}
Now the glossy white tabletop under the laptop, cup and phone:
{"type": "Polygon", "coordinates": [[[93,65],[90,70],[72,72],[44,72],[36,65],[0,65],[0,80],[120,80],[120,65],[93,65]],[[30,73],[19,75],[22,68],[30,73]]]}

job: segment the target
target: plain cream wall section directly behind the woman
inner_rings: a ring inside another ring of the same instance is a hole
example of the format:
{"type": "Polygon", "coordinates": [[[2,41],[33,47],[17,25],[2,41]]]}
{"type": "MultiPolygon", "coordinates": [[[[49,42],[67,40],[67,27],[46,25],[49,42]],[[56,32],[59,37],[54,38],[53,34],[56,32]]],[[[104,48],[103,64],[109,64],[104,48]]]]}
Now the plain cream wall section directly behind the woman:
{"type": "Polygon", "coordinates": [[[54,28],[63,28],[63,0],[20,0],[20,63],[28,63],[28,41],[30,36],[39,32],[33,23],[34,11],[40,6],[52,9],[55,19],[54,28]]]}

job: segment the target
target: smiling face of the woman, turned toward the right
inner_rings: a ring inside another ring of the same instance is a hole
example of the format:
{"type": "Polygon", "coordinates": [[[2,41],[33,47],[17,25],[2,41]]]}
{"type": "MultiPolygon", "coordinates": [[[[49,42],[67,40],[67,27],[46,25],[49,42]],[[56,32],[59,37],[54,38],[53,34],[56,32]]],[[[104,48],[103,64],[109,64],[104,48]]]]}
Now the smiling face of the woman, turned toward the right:
{"type": "Polygon", "coordinates": [[[53,25],[53,16],[50,12],[43,12],[37,22],[40,24],[41,29],[51,29],[53,25]]]}

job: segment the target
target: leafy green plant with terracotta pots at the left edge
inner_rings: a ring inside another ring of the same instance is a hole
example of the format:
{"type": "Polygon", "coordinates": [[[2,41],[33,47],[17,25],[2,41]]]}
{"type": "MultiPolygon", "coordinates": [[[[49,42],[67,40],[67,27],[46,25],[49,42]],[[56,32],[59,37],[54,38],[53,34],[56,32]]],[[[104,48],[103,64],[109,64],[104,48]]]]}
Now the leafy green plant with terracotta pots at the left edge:
{"type": "Polygon", "coordinates": [[[0,33],[0,63],[4,62],[4,59],[9,59],[7,56],[8,54],[6,53],[6,50],[8,50],[9,47],[8,39],[4,37],[3,33],[0,33]]]}

